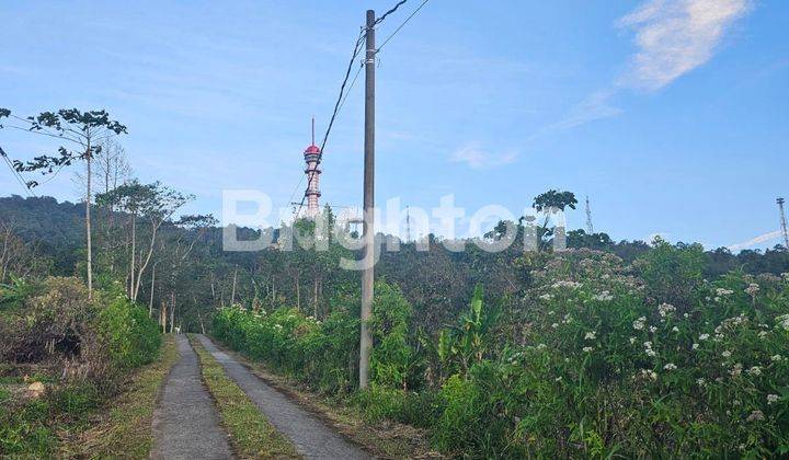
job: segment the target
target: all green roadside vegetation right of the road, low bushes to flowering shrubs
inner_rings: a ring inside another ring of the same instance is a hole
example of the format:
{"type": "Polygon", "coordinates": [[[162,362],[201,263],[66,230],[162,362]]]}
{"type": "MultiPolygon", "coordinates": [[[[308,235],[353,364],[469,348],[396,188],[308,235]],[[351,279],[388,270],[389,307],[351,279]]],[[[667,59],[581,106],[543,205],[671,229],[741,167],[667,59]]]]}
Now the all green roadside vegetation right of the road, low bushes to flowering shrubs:
{"type": "Polygon", "coordinates": [[[789,275],[707,281],[702,255],[656,241],[631,265],[590,251],[524,256],[533,281],[523,297],[490,307],[478,287],[457,325],[432,337],[409,333],[420,329],[410,304],[379,283],[374,383],[356,394],[353,314],[233,307],[214,333],[317,389],[346,392],[369,417],[431,428],[445,452],[786,455],[789,275]]]}

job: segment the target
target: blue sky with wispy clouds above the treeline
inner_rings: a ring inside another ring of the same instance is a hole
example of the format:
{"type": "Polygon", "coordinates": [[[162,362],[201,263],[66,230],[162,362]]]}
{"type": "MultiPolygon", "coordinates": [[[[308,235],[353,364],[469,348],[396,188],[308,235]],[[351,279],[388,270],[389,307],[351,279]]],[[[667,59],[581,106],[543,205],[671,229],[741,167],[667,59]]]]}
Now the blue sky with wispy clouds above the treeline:
{"type": "MultiPolygon", "coordinates": [[[[107,110],[135,175],[194,194],[185,211],[219,216],[227,189],[287,206],[365,10],[393,3],[4,2],[0,107],[107,110]]],[[[569,189],[615,240],[771,246],[789,198],[788,18],[778,0],[430,0],[378,55],[376,199],[519,214],[569,189]]],[[[362,202],[363,80],[322,161],[338,207],[362,202]]],[[[53,148],[12,129],[0,146],[21,160],[53,148]]],[[[0,191],[25,193],[8,169],[0,191]]],[[[35,192],[78,191],[65,173],[35,192]]],[[[568,221],[583,227],[583,206],[568,221]]]]}

